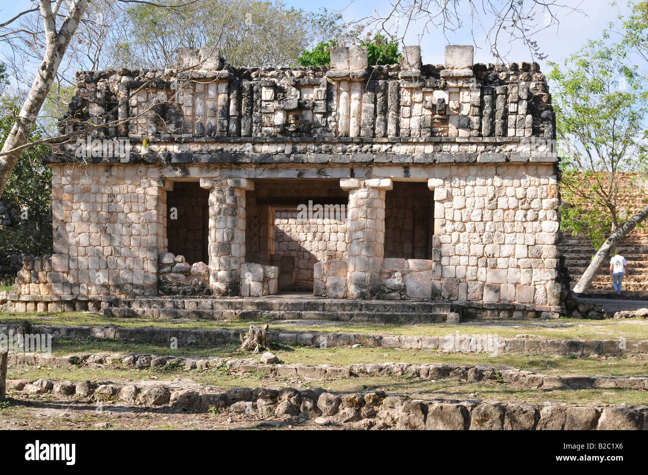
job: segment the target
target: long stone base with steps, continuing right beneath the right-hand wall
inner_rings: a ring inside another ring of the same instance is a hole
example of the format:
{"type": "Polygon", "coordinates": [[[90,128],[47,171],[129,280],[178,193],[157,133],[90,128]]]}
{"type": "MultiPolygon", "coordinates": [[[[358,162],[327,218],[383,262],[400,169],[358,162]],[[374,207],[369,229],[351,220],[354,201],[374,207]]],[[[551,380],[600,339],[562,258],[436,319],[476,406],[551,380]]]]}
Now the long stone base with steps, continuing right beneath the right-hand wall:
{"type": "Polygon", "coordinates": [[[329,299],[292,292],[267,297],[115,299],[109,318],[277,319],[364,323],[460,323],[467,319],[558,318],[553,307],[481,302],[329,299]]]}

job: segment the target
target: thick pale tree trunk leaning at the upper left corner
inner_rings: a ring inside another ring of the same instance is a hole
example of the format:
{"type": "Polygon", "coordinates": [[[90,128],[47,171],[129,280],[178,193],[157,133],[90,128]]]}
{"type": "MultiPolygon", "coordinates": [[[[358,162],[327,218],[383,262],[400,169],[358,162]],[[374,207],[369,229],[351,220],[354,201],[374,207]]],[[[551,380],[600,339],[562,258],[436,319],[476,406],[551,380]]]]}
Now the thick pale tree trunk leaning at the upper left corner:
{"type": "Polygon", "coordinates": [[[40,11],[46,37],[45,54],[32,83],[29,95],[25,99],[25,103],[16,118],[16,122],[14,122],[11,132],[9,132],[3,144],[3,153],[0,155],[0,196],[5,192],[6,182],[9,180],[9,176],[23,152],[23,149],[20,147],[26,145],[29,141],[29,135],[34,129],[38,113],[54,82],[58,67],[65,55],[65,51],[67,51],[67,46],[74,36],[79,21],[86,9],[87,0],[71,0],[67,17],[57,32],[56,14],[58,12],[58,6],[60,6],[59,2],[57,2],[56,8],[52,11],[49,0],[40,1],[40,11]],[[16,150],[16,148],[19,150],[16,150]]]}

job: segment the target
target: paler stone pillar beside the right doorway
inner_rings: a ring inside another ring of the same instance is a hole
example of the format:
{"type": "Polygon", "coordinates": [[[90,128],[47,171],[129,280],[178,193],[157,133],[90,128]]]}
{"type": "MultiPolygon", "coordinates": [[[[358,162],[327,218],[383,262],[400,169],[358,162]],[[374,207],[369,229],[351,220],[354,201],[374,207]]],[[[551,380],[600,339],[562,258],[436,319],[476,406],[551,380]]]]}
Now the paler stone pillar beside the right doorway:
{"type": "Polygon", "coordinates": [[[340,180],[349,191],[347,209],[347,296],[377,299],[385,244],[385,192],[389,178],[340,180]]]}

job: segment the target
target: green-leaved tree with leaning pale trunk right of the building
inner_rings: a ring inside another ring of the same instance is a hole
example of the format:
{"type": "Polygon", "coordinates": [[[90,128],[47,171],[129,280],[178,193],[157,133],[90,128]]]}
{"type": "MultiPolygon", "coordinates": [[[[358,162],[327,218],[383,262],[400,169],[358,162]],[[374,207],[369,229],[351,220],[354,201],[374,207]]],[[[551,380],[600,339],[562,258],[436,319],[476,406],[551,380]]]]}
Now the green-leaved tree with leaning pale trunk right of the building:
{"type": "Polygon", "coordinates": [[[607,254],[648,214],[640,182],[647,176],[648,95],[621,43],[590,41],[562,66],[551,64],[559,154],[562,157],[561,226],[584,233],[599,251],[575,290],[591,283],[607,254]],[[634,208],[622,198],[636,196],[634,208]],[[628,224],[628,226],[625,226],[628,224]],[[619,232],[616,232],[619,231],[619,232]],[[608,235],[612,235],[608,237],[608,235]]]}

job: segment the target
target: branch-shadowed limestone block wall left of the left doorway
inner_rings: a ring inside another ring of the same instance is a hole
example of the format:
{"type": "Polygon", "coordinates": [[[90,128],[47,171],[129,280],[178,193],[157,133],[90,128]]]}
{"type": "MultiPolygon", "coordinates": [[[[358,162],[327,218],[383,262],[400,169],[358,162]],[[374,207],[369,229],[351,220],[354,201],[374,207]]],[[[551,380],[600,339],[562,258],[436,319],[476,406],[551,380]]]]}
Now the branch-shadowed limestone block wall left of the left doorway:
{"type": "Polygon", "coordinates": [[[52,166],[51,284],[56,295],[153,295],[165,250],[159,170],[52,166]]]}

